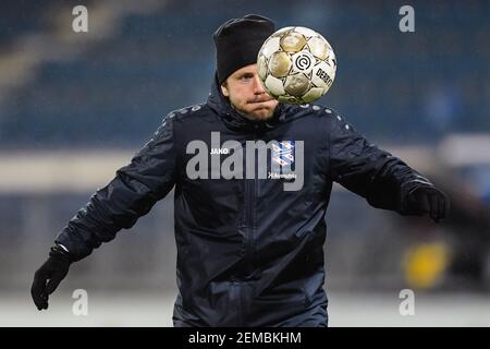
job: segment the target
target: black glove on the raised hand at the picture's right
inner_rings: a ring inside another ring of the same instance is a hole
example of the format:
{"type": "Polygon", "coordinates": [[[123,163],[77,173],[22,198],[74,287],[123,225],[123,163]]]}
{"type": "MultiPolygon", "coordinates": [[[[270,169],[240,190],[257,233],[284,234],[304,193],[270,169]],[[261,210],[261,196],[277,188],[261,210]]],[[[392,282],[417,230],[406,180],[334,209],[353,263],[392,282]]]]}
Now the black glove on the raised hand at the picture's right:
{"type": "Polygon", "coordinates": [[[450,200],[448,195],[436,186],[422,185],[413,189],[407,198],[408,210],[422,216],[429,214],[436,222],[448,217],[450,200]]]}

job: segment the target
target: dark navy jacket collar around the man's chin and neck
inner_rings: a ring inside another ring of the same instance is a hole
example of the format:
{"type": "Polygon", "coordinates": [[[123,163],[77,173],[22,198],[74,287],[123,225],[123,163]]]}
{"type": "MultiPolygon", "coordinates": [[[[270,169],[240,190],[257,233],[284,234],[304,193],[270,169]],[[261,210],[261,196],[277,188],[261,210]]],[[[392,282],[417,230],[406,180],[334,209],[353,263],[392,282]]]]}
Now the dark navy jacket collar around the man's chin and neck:
{"type": "Polygon", "coordinates": [[[215,110],[224,124],[233,131],[266,131],[269,129],[274,129],[278,124],[284,122],[285,120],[286,107],[281,103],[275,107],[273,117],[267,121],[255,121],[241,115],[232,107],[230,100],[221,93],[218,76],[216,74],[207,105],[215,110]]]}

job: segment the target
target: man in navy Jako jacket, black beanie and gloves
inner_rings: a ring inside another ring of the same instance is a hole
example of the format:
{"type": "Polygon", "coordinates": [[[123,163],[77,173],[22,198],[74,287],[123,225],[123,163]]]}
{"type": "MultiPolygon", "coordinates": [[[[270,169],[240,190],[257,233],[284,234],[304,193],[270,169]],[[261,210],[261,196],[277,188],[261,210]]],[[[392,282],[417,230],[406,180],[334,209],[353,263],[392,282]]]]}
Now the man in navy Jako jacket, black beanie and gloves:
{"type": "Polygon", "coordinates": [[[168,115],[59,233],[32,286],[39,310],[71,263],[131,228],[172,188],[175,326],[327,326],[322,244],[333,181],[378,208],[445,217],[441,191],[332,109],[266,94],[255,62],[273,32],[258,15],[218,28],[207,103],[168,115]]]}

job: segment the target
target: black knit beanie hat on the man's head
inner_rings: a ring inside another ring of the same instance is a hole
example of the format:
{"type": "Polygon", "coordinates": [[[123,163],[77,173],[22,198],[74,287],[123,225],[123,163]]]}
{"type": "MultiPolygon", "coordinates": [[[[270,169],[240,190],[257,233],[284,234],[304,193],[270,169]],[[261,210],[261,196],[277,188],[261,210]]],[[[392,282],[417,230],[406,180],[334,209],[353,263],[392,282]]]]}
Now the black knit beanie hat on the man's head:
{"type": "Polygon", "coordinates": [[[218,81],[222,84],[236,70],[257,62],[264,41],[274,33],[274,23],[247,14],[222,24],[213,34],[218,81]]]}

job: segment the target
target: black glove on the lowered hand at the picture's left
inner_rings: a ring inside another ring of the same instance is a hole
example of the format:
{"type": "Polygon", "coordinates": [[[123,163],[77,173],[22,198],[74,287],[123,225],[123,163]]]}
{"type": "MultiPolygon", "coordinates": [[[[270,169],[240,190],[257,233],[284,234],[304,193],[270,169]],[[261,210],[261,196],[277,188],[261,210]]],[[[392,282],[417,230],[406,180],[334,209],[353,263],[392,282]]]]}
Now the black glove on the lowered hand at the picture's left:
{"type": "Polygon", "coordinates": [[[49,252],[49,258],[34,274],[30,296],[38,310],[48,309],[48,298],[66,276],[70,264],[70,254],[61,246],[54,245],[49,252]]]}

